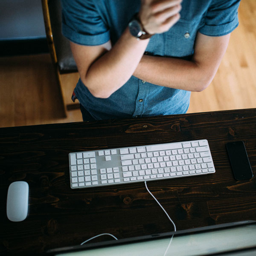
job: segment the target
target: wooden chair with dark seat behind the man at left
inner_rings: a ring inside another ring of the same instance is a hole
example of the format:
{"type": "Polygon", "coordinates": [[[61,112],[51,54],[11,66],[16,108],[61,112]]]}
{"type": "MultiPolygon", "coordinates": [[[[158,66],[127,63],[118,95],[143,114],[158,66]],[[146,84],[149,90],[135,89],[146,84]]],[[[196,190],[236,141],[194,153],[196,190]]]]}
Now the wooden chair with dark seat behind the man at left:
{"type": "MultiPolygon", "coordinates": [[[[61,33],[61,0],[41,0],[41,3],[49,52],[67,116],[67,111],[79,108],[79,103],[71,101],[73,88],[76,85],[75,83],[73,84],[74,79],[73,81],[71,79],[72,84],[67,85],[66,83],[65,85],[61,77],[67,76],[65,75],[67,73],[76,73],[75,77],[78,78],[79,74],[70,49],[70,43],[61,33]],[[68,92],[67,87],[69,89],[68,92]],[[67,96],[65,95],[66,93],[67,96]]],[[[66,80],[70,83],[70,80],[66,80]]]]}

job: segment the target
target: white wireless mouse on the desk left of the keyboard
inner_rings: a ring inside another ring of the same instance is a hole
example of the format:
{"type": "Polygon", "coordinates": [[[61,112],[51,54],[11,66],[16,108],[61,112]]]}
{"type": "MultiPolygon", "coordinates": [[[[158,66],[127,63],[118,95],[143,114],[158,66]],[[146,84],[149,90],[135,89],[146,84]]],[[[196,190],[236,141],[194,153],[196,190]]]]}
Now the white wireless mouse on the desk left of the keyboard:
{"type": "Polygon", "coordinates": [[[28,215],[29,184],[15,181],[10,184],[7,193],[6,213],[10,221],[23,221],[28,215]]]}

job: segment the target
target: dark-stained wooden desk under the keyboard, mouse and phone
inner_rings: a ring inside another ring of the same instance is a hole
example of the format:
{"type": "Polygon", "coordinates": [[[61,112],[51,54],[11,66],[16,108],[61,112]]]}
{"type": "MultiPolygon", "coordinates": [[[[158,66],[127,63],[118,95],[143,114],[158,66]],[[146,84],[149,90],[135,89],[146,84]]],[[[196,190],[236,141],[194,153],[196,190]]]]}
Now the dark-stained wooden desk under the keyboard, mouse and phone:
{"type": "MultiPolygon", "coordinates": [[[[0,129],[0,253],[36,255],[101,233],[117,238],[173,226],[144,183],[70,189],[68,153],[207,139],[216,173],[148,182],[177,230],[256,220],[256,109],[0,129]],[[253,169],[236,181],[225,144],[243,140],[253,169]],[[29,215],[6,216],[10,183],[29,183],[29,215]]],[[[111,239],[102,236],[94,241],[111,239]]]]}

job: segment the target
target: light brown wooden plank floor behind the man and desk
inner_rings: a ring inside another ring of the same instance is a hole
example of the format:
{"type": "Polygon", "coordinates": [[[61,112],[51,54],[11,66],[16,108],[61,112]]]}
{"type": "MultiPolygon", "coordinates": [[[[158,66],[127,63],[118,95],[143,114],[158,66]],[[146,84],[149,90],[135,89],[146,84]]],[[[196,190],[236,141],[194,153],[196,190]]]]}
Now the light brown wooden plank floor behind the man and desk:
{"type": "MultiPolygon", "coordinates": [[[[256,108],[256,1],[243,0],[239,27],[212,84],[192,93],[188,113],[256,108]]],[[[66,101],[78,74],[64,75],[66,101]]],[[[0,58],[0,127],[81,121],[79,110],[64,117],[48,54],[0,58]]]]}

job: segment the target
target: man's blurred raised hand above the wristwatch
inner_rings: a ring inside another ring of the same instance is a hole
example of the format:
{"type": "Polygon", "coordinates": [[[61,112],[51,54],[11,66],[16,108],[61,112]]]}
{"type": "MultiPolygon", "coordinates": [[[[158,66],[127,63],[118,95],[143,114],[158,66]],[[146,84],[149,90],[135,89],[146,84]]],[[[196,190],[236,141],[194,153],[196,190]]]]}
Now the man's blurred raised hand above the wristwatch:
{"type": "Polygon", "coordinates": [[[168,31],[179,19],[182,0],[141,0],[140,21],[149,34],[168,31]]]}

